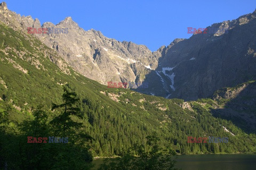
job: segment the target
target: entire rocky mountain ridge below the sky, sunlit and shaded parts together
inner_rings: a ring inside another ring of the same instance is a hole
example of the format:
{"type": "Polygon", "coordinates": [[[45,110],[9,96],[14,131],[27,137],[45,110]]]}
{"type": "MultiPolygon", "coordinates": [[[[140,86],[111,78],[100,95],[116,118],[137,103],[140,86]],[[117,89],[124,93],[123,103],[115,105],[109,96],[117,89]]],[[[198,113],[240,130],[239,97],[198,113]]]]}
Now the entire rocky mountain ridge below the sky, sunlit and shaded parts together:
{"type": "Polygon", "coordinates": [[[34,34],[57,51],[82,75],[107,82],[147,82],[137,91],[195,100],[214,91],[256,77],[256,11],[236,20],[214,23],[209,33],[174,39],[169,46],[151,52],[145,45],[119,42],[100,31],[80,28],[70,17],[57,25],[21,17],[0,7],[0,19],[14,29],[27,27],[67,29],[67,34],[34,34]],[[221,31],[227,30],[227,31],[221,31]]]}

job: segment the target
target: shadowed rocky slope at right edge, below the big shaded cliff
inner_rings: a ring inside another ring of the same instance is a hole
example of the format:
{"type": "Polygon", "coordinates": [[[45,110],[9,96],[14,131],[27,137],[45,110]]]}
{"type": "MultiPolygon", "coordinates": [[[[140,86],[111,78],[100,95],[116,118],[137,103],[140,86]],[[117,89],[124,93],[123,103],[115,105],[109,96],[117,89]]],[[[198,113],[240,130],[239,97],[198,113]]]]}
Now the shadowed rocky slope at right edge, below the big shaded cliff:
{"type": "Polygon", "coordinates": [[[231,120],[244,131],[256,130],[256,83],[251,81],[233,88],[222,88],[213,95],[214,100],[228,100],[225,108],[214,109],[212,114],[231,120]]]}

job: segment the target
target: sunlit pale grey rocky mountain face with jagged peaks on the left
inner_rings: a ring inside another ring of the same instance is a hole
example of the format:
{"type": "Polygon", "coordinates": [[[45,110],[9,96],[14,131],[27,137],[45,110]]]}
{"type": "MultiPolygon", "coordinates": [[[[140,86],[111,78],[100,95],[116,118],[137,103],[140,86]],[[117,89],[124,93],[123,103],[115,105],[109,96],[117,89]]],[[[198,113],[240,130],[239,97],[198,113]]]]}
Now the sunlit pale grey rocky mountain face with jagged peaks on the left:
{"type": "Polygon", "coordinates": [[[57,25],[46,22],[41,26],[38,19],[34,20],[30,16],[21,17],[7,9],[5,11],[6,14],[0,13],[1,20],[12,28],[24,32],[27,32],[28,27],[37,30],[38,28],[67,29],[67,34],[33,35],[55,49],[76,71],[101,84],[107,85],[109,81],[142,82],[150,69],[157,67],[158,58],[161,56],[161,53],[153,53],[145,45],[119,42],[93,29],[85,31],[71,17],[67,17],[57,25]]]}

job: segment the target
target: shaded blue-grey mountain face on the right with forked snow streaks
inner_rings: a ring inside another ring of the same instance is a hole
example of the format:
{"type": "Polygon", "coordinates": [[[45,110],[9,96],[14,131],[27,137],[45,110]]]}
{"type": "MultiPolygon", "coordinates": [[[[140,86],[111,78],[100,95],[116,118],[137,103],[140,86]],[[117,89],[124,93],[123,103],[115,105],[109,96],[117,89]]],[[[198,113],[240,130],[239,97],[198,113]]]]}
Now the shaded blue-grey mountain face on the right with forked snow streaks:
{"type": "Polygon", "coordinates": [[[225,86],[256,78],[256,12],[215,23],[212,34],[195,34],[174,41],[146,76],[144,93],[196,100],[225,86]],[[227,29],[227,33],[219,30],[227,29]],[[156,88],[157,87],[157,88],[156,88]]]}

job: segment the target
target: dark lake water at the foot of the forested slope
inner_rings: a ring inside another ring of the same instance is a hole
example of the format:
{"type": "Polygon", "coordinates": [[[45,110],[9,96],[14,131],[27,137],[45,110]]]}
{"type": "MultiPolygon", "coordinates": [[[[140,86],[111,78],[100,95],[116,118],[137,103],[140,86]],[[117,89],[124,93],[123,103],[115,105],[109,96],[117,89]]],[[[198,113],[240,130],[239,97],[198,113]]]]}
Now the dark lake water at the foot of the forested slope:
{"type": "MultiPolygon", "coordinates": [[[[102,159],[97,159],[93,162],[101,164],[102,159]]],[[[175,167],[182,168],[183,170],[256,169],[256,154],[180,155],[175,167]]]]}

